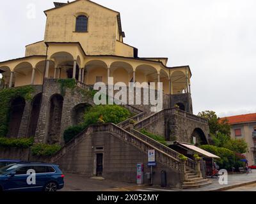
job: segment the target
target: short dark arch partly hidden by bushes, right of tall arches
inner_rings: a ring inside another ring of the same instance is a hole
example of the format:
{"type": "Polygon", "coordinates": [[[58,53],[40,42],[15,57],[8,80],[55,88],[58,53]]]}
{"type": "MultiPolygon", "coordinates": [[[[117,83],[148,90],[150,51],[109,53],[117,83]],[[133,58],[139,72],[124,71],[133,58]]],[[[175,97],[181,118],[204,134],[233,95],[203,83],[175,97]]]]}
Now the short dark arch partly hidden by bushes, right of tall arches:
{"type": "Polygon", "coordinates": [[[80,103],[79,105],[74,106],[72,109],[72,126],[76,126],[77,124],[83,122],[84,113],[90,108],[91,105],[88,103],[80,103]]]}

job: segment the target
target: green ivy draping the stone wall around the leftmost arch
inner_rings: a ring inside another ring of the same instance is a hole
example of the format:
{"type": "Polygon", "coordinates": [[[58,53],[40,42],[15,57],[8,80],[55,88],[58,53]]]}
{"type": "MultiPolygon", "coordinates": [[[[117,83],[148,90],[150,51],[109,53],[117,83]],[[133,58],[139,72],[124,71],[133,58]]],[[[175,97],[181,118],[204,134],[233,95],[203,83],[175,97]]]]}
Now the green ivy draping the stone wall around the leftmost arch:
{"type": "Polygon", "coordinates": [[[33,92],[35,92],[35,88],[30,85],[0,91],[0,138],[6,136],[8,133],[12,99],[22,97],[26,101],[31,101],[33,92]]]}

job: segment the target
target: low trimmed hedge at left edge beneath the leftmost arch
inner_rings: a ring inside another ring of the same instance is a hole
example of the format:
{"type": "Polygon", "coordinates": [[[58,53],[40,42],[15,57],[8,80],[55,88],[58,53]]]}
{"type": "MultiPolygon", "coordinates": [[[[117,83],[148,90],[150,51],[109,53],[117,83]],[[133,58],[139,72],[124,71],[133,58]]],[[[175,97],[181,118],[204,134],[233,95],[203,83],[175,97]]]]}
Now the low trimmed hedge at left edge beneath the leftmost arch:
{"type": "Polygon", "coordinates": [[[34,138],[0,138],[1,147],[17,147],[27,149],[33,145],[34,138]]]}

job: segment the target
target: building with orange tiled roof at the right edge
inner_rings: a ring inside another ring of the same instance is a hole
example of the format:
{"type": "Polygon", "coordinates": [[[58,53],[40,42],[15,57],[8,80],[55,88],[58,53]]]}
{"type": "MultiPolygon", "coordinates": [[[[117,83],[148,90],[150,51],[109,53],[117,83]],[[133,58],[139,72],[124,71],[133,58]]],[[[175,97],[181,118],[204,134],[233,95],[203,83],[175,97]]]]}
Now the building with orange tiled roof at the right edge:
{"type": "Polygon", "coordinates": [[[249,165],[256,163],[256,113],[227,117],[231,126],[231,137],[244,139],[248,143],[245,156],[249,165]]]}

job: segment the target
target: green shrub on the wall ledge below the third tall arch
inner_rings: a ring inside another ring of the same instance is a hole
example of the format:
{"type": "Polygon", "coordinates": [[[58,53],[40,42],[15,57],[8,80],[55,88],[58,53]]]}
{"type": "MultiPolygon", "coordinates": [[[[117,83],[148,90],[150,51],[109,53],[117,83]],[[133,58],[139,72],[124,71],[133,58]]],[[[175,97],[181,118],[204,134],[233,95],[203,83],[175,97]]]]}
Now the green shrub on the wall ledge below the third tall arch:
{"type": "Polygon", "coordinates": [[[52,156],[61,149],[60,145],[47,145],[37,143],[31,147],[31,152],[34,156],[52,156]]]}

